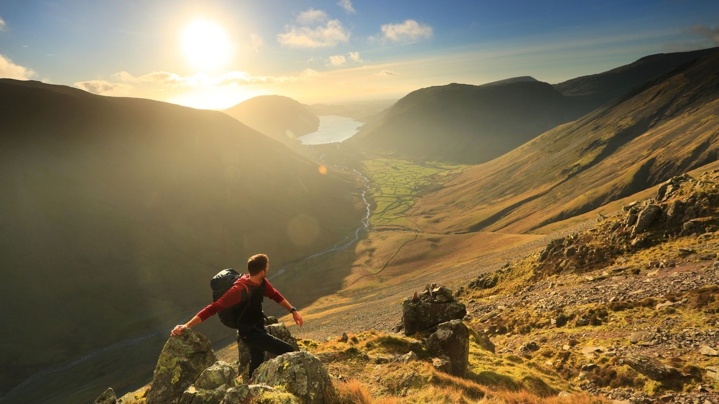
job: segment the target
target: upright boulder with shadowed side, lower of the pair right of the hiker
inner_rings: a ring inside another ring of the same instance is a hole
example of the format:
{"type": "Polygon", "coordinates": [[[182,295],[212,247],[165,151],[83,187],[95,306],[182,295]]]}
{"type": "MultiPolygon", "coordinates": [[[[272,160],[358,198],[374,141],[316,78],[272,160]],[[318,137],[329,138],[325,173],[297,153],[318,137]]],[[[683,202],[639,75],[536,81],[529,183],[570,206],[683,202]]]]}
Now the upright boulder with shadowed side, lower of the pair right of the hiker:
{"type": "Polygon", "coordinates": [[[441,323],[437,331],[425,340],[427,350],[433,357],[449,361],[450,375],[465,377],[470,362],[470,330],[462,320],[441,323]]]}

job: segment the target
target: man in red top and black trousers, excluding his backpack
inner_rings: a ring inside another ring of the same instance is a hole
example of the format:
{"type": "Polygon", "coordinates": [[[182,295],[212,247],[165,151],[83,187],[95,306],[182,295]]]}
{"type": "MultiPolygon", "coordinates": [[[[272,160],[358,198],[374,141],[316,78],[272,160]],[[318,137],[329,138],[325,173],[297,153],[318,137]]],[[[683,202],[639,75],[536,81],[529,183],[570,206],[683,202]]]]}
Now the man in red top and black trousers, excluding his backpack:
{"type": "Polygon", "coordinates": [[[265,316],[262,313],[262,300],[265,296],[275,300],[280,306],[286,308],[297,323],[302,326],[302,316],[297,308],[292,306],[287,299],[280,295],[277,289],[270,285],[267,280],[267,270],[270,268],[270,260],[265,254],[257,254],[247,260],[247,272],[235,281],[232,288],[227,290],[221,298],[211,305],[203,308],[190,321],[175,326],[171,335],[180,335],[185,329],[205,321],[223,308],[229,308],[244,302],[244,308],[237,319],[237,334],[249,347],[249,377],[252,372],[260,366],[265,359],[265,351],[275,355],[292,352],[293,347],[267,334],[265,331],[265,316]]]}

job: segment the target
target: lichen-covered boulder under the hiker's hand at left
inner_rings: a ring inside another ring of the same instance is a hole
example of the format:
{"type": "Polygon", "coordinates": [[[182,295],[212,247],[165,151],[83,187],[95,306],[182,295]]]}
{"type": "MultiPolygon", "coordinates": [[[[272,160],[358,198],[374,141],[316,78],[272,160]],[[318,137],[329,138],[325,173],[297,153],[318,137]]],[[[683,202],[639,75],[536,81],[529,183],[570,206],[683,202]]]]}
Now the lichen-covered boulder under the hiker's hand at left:
{"type": "Polygon", "coordinates": [[[186,329],[179,336],[171,336],[157,359],[147,404],[178,403],[183,392],[201,372],[216,361],[206,336],[192,329],[186,329]]]}

